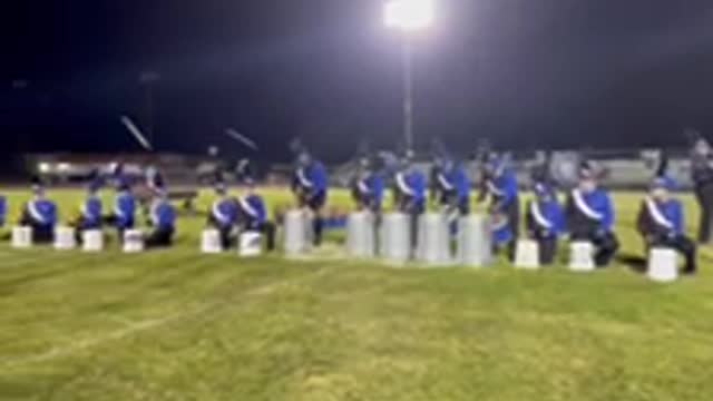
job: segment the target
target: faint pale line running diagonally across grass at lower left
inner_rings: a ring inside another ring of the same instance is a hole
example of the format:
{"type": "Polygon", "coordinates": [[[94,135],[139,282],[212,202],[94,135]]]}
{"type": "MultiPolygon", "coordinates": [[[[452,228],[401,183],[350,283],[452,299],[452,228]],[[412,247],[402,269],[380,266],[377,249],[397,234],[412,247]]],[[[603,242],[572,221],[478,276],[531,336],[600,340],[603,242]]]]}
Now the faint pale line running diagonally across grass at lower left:
{"type": "MultiPolygon", "coordinates": [[[[320,277],[322,276],[324,273],[330,272],[331,270],[328,267],[322,267],[315,272],[311,272],[309,274],[302,275],[300,277],[296,278],[285,278],[285,280],[279,280],[277,282],[274,283],[270,283],[270,284],[265,284],[262,286],[258,286],[256,288],[252,288],[248,290],[242,294],[240,294],[240,296],[237,299],[242,299],[242,297],[250,297],[250,296],[256,296],[256,295],[267,295],[267,294],[272,294],[275,291],[280,290],[283,286],[289,286],[289,285],[294,285],[294,284],[300,284],[302,282],[315,278],[315,277],[320,277]]],[[[204,303],[203,305],[194,309],[193,311],[189,312],[179,312],[179,313],[174,313],[160,319],[147,319],[147,320],[143,320],[143,321],[138,321],[138,322],[131,322],[130,324],[128,324],[126,327],[120,329],[120,330],[116,330],[113,332],[109,332],[106,335],[99,335],[99,336],[95,336],[95,338],[90,338],[90,339],[85,339],[85,340],[79,340],[79,341],[75,341],[75,342],[70,342],[69,344],[61,346],[61,348],[53,348],[47,352],[43,353],[39,353],[39,354],[35,354],[31,356],[25,356],[25,358],[18,358],[18,359],[13,359],[13,360],[8,360],[4,361],[2,363],[0,363],[0,368],[2,369],[13,369],[13,368],[18,368],[21,365],[26,365],[26,364],[31,364],[31,363],[38,363],[38,362],[46,362],[46,361],[51,361],[53,359],[57,358],[62,358],[62,356],[67,356],[70,355],[75,352],[78,351],[84,351],[94,346],[98,346],[101,345],[104,343],[110,342],[110,341],[118,341],[118,340],[123,340],[126,339],[128,336],[131,336],[134,334],[137,333],[141,333],[141,332],[146,332],[156,327],[160,327],[184,319],[188,319],[188,317],[193,317],[193,316],[197,316],[197,315],[202,315],[206,312],[208,312],[212,309],[218,309],[221,306],[225,306],[225,305],[234,305],[235,299],[231,299],[231,301],[227,300],[223,300],[223,301],[216,301],[216,302],[208,302],[208,303],[204,303]]]]}

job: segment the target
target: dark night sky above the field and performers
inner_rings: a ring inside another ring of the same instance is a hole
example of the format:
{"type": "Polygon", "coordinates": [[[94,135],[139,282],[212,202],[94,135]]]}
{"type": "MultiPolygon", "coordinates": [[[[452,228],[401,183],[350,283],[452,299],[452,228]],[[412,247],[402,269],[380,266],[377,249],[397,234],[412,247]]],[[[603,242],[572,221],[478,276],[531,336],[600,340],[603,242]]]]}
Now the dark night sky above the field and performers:
{"type": "MultiPolygon", "coordinates": [[[[235,127],[287,158],[401,138],[400,37],[379,0],[22,0],[0,11],[2,153],[119,151],[136,144],[243,150],[235,127]]],[[[713,135],[713,1],[441,0],[413,38],[416,135],[498,147],[683,146],[713,135]]]]}

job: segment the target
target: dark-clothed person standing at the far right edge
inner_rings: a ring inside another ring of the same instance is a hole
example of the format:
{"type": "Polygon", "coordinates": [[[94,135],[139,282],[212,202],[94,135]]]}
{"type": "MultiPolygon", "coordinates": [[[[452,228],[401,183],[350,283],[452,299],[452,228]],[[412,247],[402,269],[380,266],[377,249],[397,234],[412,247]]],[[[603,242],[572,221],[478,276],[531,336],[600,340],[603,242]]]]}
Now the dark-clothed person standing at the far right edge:
{"type": "Polygon", "coordinates": [[[711,242],[713,229],[713,151],[704,138],[696,138],[691,153],[695,197],[701,208],[699,243],[711,242]]]}

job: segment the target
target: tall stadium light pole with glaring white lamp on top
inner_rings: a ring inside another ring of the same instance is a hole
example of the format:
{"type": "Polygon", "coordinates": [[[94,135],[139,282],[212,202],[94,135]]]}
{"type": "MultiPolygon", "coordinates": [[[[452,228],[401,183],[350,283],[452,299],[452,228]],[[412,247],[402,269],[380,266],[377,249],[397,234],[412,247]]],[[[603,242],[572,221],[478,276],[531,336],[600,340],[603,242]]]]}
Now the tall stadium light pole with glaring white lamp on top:
{"type": "Polygon", "coordinates": [[[413,77],[411,37],[433,25],[436,0],[389,0],[384,4],[387,27],[403,37],[403,138],[407,149],[413,149],[413,77]]]}

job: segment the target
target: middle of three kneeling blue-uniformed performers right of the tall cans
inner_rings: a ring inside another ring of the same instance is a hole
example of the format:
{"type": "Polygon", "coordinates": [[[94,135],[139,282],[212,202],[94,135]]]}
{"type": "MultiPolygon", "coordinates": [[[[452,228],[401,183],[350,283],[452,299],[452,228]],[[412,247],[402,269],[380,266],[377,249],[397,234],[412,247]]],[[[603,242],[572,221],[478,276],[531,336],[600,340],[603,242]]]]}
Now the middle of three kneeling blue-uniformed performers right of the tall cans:
{"type": "Polygon", "coordinates": [[[585,162],[579,168],[579,184],[567,196],[567,231],[572,241],[590,242],[597,266],[607,266],[619,248],[614,232],[615,213],[608,192],[598,184],[594,166],[585,162]]]}

